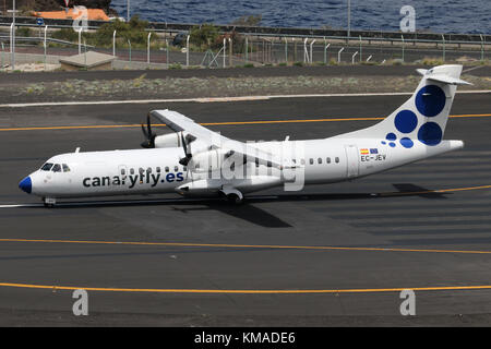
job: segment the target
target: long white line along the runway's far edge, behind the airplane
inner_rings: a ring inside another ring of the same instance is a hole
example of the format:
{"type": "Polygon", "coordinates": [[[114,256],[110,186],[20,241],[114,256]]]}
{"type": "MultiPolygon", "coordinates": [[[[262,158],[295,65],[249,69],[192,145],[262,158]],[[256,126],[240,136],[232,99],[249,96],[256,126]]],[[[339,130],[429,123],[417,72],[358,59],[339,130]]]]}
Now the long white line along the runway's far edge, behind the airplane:
{"type": "MultiPolygon", "coordinates": [[[[457,91],[457,94],[489,94],[491,89],[457,91]]],[[[397,93],[370,93],[370,94],[308,94],[308,95],[268,95],[268,96],[241,96],[241,97],[209,97],[209,98],[170,98],[170,99],[131,99],[131,100],[94,100],[94,101],[46,101],[46,103],[19,103],[3,104],[0,108],[28,108],[53,106],[98,106],[98,105],[130,105],[130,104],[165,104],[165,103],[217,103],[217,101],[250,101],[267,100],[274,98],[327,98],[327,97],[375,97],[375,96],[410,96],[412,92],[397,93]]]]}

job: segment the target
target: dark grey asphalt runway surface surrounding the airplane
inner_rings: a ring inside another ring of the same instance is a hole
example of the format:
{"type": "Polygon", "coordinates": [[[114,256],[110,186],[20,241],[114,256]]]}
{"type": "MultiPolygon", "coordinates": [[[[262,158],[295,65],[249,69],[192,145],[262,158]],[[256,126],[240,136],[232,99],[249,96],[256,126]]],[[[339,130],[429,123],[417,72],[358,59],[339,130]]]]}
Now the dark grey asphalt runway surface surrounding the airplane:
{"type": "Polygon", "coordinates": [[[209,128],[238,140],[298,140],[368,127],[357,118],[406,98],[0,108],[0,325],[490,325],[490,94],[455,98],[445,139],[463,151],[241,206],[169,194],[48,209],[17,189],[55,154],[139,146],[151,109],[232,122],[209,128]],[[72,313],[79,288],[88,316],[72,313]],[[416,316],[400,315],[402,289],[416,316]]]}

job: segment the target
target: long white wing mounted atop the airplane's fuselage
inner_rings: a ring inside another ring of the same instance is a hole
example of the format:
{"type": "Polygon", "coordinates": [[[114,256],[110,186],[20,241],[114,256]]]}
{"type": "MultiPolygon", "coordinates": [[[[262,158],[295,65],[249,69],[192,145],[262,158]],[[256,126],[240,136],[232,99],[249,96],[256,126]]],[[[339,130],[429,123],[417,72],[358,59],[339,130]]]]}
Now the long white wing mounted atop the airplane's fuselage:
{"type": "Polygon", "coordinates": [[[189,134],[195,136],[201,142],[209,144],[214,148],[223,148],[232,151],[235,154],[241,154],[248,158],[249,161],[256,161],[259,164],[276,167],[283,169],[280,161],[274,159],[271,153],[261,151],[248,143],[230,140],[220,135],[217,132],[211,131],[201,124],[194,122],[192,119],[172,110],[153,110],[151,115],[163,123],[165,123],[170,130],[175,132],[185,131],[189,134]]]}

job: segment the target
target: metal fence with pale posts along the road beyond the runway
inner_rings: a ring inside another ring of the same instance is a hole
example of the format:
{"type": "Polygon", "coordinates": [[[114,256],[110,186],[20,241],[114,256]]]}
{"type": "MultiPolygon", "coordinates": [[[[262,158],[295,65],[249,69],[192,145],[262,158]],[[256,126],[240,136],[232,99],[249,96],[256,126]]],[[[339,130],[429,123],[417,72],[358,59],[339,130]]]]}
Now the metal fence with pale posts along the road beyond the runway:
{"type": "MultiPolygon", "coordinates": [[[[8,24],[8,23],[5,23],[8,24]]],[[[486,61],[489,59],[491,43],[447,40],[406,39],[384,37],[297,37],[294,35],[253,34],[236,35],[232,39],[224,35],[223,45],[214,50],[196,50],[189,43],[182,40],[181,46],[172,46],[175,34],[166,31],[149,32],[146,48],[132,48],[130,40],[123,40],[118,33],[108,38],[112,47],[93,47],[84,45],[83,34],[79,33],[79,40],[70,43],[52,37],[58,31],[49,26],[33,26],[32,24],[17,24],[19,27],[35,28],[36,36],[15,36],[15,52],[24,55],[47,57],[72,56],[86,50],[94,50],[112,55],[119,67],[128,68],[183,68],[207,67],[224,68],[238,65],[260,64],[390,64],[414,62],[465,62],[486,61]],[[236,40],[236,41],[233,41],[236,40]],[[151,45],[152,44],[152,45],[151,45]],[[125,64],[125,65],[124,65],[125,64]],[[145,65],[146,64],[146,65],[145,65]]],[[[12,25],[1,26],[0,44],[2,67],[12,60],[11,41],[13,37],[12,25]],[[10,55],[9,55],[10,53],[10,55]]],[[[189,38],[189,36],[188,36],[189,38]]],[[[17,61],[19,63],[20,61],[17,61]]]]}

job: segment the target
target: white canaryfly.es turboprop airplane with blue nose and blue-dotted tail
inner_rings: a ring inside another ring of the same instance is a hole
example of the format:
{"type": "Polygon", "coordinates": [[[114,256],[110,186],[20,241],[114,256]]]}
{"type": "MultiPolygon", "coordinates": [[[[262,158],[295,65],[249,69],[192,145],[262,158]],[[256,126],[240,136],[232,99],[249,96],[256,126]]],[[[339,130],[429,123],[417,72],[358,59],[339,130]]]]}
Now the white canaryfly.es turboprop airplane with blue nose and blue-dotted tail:
{"type": "Polygon", "coordinates": [[[418,70],[412,96],[381,122],[320,140],[243,143],[213,132],[171,110],[147,116],[144,149],[80,152],[51,157],[19,186],[57,198],[178,192],[219,196],[238,203],[243,194],[284,185],[335,183],[378,173],[431,156],[460,149],[463,141],[443,133],[462,65],[418,70]],[[151,117],[171,133],[156,135],[151,117]]]}

